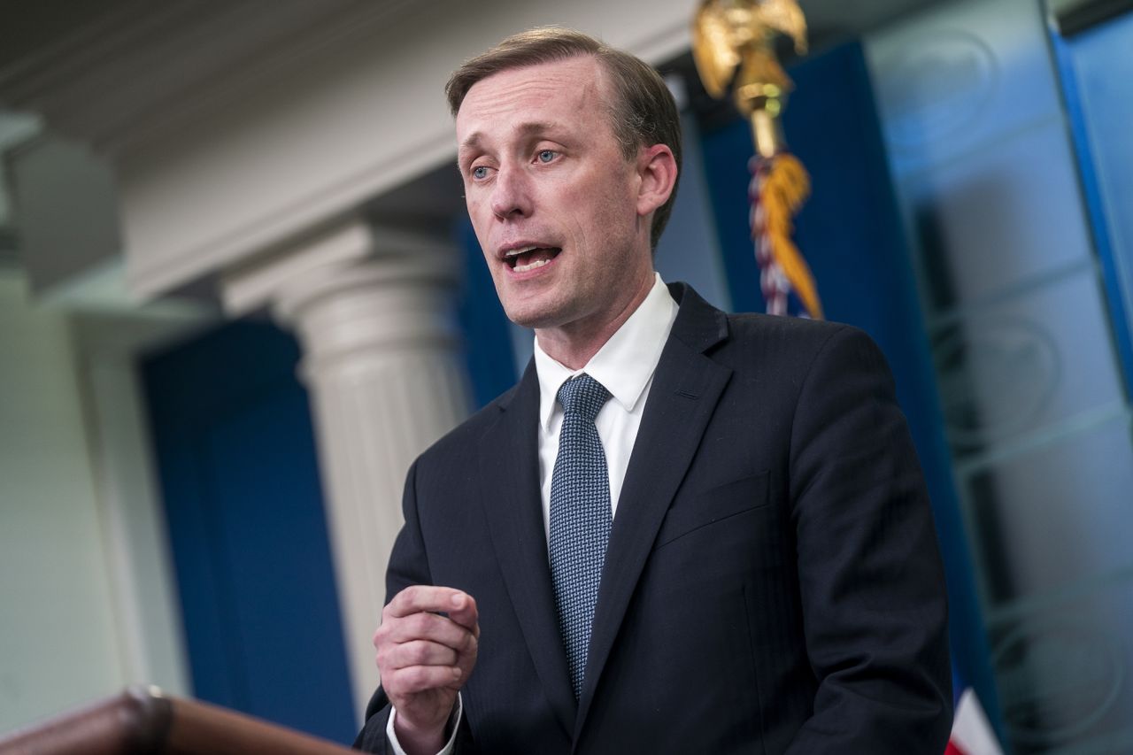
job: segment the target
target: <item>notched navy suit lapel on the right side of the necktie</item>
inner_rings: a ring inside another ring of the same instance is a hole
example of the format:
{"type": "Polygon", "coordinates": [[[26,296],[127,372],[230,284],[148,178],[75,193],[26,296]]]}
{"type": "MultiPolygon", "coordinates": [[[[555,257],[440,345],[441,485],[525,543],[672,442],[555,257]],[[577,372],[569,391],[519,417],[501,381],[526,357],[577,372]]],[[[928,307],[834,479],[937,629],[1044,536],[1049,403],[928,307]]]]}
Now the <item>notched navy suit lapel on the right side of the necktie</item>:
{"type": "Polygon", "coordinates": [[[727,337],[724,313],[682,285],[671,289],[681,308],[654,373],[619,498],[574,722],[576,743],[657,529],[732,374],[704,355],[727,337]]]}

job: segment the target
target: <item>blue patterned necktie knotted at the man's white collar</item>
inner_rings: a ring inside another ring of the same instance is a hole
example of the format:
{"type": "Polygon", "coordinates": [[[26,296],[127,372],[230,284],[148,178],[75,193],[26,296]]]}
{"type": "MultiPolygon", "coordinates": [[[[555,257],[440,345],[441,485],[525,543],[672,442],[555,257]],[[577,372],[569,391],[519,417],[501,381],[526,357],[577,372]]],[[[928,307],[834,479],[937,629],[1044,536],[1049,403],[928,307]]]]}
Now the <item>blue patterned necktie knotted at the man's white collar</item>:
{"type": "Polygon", "coordinates": [[[610,391],[582,373],[559,389],[563,424],[551,475],[551,577],[574,697],[582,690],[590,625],[610,542],[610,477],[594,418],[610,391]]]}

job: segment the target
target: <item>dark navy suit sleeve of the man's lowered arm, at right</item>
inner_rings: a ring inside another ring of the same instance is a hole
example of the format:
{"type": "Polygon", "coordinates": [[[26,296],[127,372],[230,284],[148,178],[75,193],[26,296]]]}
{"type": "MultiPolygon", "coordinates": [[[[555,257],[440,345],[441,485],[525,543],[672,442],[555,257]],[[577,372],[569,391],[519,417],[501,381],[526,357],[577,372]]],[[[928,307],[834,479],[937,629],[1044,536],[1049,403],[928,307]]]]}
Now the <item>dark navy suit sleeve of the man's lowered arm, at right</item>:
{"type": "Polygon", "coordinates": [[[790,486],[812,716],[790,753],[944,750],[947,599],[928,492],[877,346],[843,328],[813,359],[790,486]]]}

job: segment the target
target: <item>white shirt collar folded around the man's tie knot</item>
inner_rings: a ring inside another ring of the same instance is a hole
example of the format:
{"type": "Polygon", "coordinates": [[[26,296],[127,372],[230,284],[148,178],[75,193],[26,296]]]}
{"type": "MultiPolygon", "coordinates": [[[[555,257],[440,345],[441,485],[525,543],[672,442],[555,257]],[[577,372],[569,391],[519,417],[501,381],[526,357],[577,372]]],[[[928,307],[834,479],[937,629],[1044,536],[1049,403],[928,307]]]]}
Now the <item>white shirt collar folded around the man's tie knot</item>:
{"type": "Polygon", "coordinates": [[[535,339],[535,370],[539,378],[539,423],[550,432],[559,389],[569,379],[586,373],[606,387],[623,409],[632,412],[649,384],[661,350],[676,320],[676,302],[658,273],[645,300],[610,337],[581,370],[570,370],[547,356],[535,339]]]}

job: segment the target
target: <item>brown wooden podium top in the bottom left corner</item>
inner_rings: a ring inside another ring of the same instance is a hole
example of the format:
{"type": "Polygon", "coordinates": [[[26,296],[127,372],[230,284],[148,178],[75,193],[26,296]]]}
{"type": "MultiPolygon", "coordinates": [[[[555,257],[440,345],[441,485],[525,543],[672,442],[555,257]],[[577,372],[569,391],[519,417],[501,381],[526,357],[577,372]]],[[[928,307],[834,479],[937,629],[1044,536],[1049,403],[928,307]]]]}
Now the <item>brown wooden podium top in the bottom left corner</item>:
{"type": "Polygon", "coordinates": [[[0,755],[347,755],[355,750],[155,687],[0,736],[0,755]]]}

